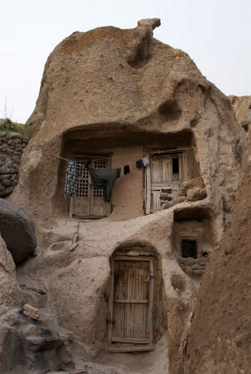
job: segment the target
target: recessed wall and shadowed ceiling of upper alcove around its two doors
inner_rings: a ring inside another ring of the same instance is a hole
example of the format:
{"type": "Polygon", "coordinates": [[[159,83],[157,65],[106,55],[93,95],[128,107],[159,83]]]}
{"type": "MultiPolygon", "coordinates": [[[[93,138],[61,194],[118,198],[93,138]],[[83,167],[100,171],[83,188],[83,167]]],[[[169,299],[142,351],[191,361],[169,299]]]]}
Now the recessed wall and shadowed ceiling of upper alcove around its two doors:
{"type": "MultiPolygon", "coordinates": [[[[129,134],[123,129],[114,129],[117,136],[103,137],[93,130],[76,131],[66,134],[62,141],[61,156],[67,159],[91,158],[98,155],[108,159],[108,167],[121,167],[121,176],[115,182],[111,197],[110,219],[127,220],[144,215],[145,170],[136,167],[136,160],[143,157],[143,152],[159,149],[175,149],[194,145],[191,131],[158,136],[153,134],[129,134]],[[91,136],[90,139],[85,139],[91,136]],[[96,137],[93,140],[93,137],[96,137]],[[128,146],[130,145],[130,146],[128,146]],[[146,146],[147,145],[147,146],[146,146]],[[88,156],[89,155],[89,156],[88,156]],[[77,156],[77,158],[76,158],[77,156]],[[123,174],[123,166],[130,164],[130,174],[123,174]]],[[[108,134],[110,131],[108,131],[108,134]]],[[[105,136],[106,135],[106,136],[105,136]]],[[[199,163],[195,158],[195,149],[188,149],[188,179],[199,176],[199,163]]],[[[69,201],[63,199],[66,161],[59,161],[58,187],[54,198],[55,212],[64,216],[69,212],[69,201]]]]}

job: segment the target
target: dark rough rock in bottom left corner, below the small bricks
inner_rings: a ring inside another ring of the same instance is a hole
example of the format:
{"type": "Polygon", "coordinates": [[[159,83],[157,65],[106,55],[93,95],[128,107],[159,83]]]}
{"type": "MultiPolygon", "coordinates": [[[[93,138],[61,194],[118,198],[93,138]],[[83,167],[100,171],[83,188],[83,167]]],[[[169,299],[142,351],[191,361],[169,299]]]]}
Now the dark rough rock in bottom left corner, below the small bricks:
{"type": "Polygon", "coordinates": [[[43,374],[72,367],[70,347],[45,323],[23,315],[19,308],[3,309],[0,320],[0,370],[3,374],[43,374]]]}

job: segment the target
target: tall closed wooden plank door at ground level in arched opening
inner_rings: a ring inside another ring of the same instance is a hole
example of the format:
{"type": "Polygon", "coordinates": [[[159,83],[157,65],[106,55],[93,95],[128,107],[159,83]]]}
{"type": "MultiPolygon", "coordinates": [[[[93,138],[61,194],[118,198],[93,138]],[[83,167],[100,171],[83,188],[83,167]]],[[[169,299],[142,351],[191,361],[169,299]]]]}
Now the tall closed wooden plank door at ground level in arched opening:
{"type": "Polygon", "coordinates": [[[114,259],[110,335],[112,343],[152,341],[153,272],[149,259],[114,259]]]}

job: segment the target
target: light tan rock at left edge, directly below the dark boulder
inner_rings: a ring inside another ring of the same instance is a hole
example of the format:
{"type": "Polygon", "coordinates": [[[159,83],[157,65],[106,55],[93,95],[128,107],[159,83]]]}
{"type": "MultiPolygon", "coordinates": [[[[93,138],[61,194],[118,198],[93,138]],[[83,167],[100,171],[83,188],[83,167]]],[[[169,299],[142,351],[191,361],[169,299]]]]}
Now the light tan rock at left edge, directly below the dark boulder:
{"type": "Polygon", "coordinates": [[[17,282],[16,266],[12,255],[0,235],[0,309],[7,306],[19,305],[22,297],[17,282]]]}

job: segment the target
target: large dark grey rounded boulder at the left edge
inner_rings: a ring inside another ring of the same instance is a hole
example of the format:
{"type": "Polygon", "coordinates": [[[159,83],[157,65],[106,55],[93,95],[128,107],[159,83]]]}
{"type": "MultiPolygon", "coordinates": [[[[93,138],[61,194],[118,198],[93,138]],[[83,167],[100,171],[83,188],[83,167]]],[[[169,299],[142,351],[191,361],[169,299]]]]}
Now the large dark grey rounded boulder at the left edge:
{"type": "Polygon", "coordinates": [[[0,231],[15,262],[25,260],[37,247],[35,227],[16,204],[0,199],[0,231]]]}

